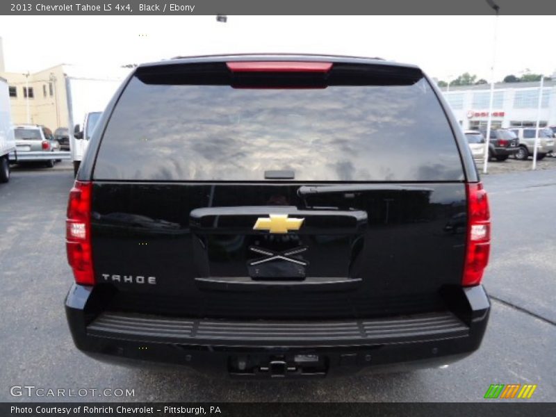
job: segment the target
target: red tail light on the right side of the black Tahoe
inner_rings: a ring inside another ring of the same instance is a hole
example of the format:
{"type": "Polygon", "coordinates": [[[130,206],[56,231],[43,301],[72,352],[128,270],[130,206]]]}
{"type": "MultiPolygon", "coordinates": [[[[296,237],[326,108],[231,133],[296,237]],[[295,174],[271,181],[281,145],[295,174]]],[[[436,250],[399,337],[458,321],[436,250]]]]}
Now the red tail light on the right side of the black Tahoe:
{"type": "Polygon", "coordinates": [[[481,283],[484,268],[489,263],[491,250],[491,221],[489,199],[482,183],[467,184],[467,247],[464,277],[461,284],[474,286],[481,283]]]}

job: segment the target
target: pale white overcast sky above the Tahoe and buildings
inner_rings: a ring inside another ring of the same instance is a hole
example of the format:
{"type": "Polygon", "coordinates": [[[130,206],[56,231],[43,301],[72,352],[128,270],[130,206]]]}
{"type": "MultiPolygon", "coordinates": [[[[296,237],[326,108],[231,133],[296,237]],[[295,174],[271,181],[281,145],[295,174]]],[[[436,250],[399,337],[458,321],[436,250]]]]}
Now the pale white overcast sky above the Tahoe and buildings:
{"type": "MultiPolygon", "coordinates": [[[[173,56],[310,52],[380,56],[447,79],[490,79],[493,16],[0,16],[6,71],[124,65],[173,56]]],[[[553,16],[500,16],[496,79],[556,70],[553,16]],[[542,30],[540,30],[542,29],[542,30]]]]}

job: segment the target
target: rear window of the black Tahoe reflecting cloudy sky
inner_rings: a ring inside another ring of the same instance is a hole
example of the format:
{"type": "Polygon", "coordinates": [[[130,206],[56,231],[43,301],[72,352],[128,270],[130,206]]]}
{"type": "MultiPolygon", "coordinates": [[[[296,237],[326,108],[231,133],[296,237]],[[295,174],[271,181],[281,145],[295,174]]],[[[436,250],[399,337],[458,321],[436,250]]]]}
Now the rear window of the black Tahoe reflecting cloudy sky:
{"type": "Polygon", "coordinates": [[[265,170],[291,170],[294,181],[463,179],[423,76],[325,88],[148,81],[134,76],[117,102],[95,179],[263,181],[265,170]]]}

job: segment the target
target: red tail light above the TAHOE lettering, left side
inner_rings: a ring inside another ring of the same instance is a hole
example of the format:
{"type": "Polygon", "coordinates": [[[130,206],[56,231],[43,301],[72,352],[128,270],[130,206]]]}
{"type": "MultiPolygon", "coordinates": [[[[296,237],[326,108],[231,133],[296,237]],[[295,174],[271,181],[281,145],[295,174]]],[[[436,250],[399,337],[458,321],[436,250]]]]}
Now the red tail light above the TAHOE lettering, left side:
{"type": "Polygon", "coordinates": [[[91,248],[92,183],[75,181],[67,202],[66,249],[77,284],[95,285],[91,248]]]}

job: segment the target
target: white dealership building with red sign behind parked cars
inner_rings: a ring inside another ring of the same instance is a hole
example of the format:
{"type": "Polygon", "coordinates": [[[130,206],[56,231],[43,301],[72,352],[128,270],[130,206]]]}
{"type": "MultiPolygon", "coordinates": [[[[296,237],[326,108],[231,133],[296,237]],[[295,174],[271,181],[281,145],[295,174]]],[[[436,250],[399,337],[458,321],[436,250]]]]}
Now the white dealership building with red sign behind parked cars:
{"type": "MultiPolygon", "coordinates": [[[[464,129],[486,129],[490,84],[441,89],[464,129]]],[[[536,126],[539,82],[494,85],[492,127],[536,126]]],[[[540,126],[556,125],[556,81],[544,81],[540,126]]]]}

